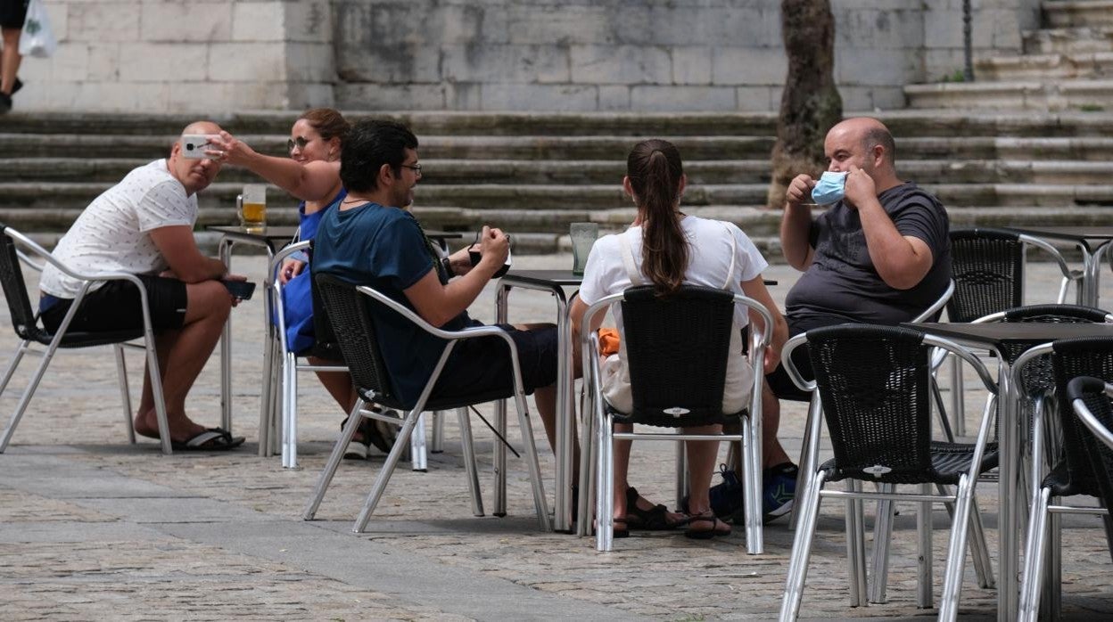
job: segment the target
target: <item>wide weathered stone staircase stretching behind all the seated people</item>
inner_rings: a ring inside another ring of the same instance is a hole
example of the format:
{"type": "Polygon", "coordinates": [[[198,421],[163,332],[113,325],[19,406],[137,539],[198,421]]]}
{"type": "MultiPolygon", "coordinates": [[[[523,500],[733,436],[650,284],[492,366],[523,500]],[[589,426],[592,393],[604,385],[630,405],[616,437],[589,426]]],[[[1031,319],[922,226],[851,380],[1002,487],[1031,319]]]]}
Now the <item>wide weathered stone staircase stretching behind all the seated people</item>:
{"type": "MultiPolygon", "coordinates": [[[[295,113],[250,112],[218,122],[283,155],[295,113]]],[[[358,112],[349,112],[357,118],[358,112]]],[[[737,223],[779,260],[779,210],[761,207],[771,113],[378,115],[411,125],[426,175],[415,213],[430,228],[513,233],[516,253],[568,244],[568,225],[619,230],[633,218],[621,178],[642,137],[673,140],[686,160],[687,213],[737,223]]],[[[938,194],[955,225],[1107,223],[1113,207],[1113,115],[903,110],[879,115],[897,137],[898,171],[938,194]]],[[[11,113],[0,117],[0,221],[48,244],[128,170],[165,155],[183,116],[11,113]]],[[[227,167],[199,195],[200,225],[230,224],[235,195],[257,181],[227,167]]],[[[273,188],[268,214],[296,221],[273,188]]],[[[211,244],[211,236],[199,234],[211,244]]]]}

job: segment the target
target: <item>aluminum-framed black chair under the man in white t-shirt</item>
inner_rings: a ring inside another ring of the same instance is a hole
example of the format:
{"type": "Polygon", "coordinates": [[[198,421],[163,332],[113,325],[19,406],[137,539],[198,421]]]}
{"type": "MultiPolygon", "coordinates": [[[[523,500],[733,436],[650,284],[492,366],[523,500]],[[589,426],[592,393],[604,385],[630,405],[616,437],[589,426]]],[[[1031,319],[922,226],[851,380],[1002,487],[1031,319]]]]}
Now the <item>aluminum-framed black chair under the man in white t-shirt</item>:
{"type": "Polygon", "coordinates": [[[147,353],[151,393],[155,397],[155,414],[158,419],[158,435],[161,438],[162,453],[170,454],[173,451],[170,446],[170,428],[166,419],[166,403],[162,398],[162,381],[159,374],[158,355],[155,352],[155,332],[151,328],[150,309],[147,305],[147,289],[142,286],[142,282],[135,275],[125,273],[79,274],[16,229],[3,227],[2,231],[3,235],[0,236],[0,284],[3,286],[4,298],[8,300],[8,309],[11,313],[12,328],[20,339],[20,344],[3,374],[3,379],[0,381],[0,395],[8,388],[8,383],[11,382],[23,355],[35,353],[39,354],[41,358],[39,366],[36,368],[19,398],[19,404],[16,406],[16,411],[8,422],[8,427],[3,431],[3,436],[0,437],[0,453],[3,453],[8,448],[8,442],[11,441],[11,436],[16,432],[16,426],[19,425],[20,418],[22,418],[23,413],[27,411],[27,406],[30,404],[31,397],[35,395],[35,391],[38,388],[39,382],[42,379],[42,375],[46,373],[47,366],[50,365],[50,361],[58,348],[111,345],[116,352],[116,371],[120,382],[120,397],[124,399],[124,419],[127,423],[128,441],[135,443],[136,434],[131,422],[131,395],[128,391],[124,348],[134,347],[144,349],[147,353]],[[37,271],[41,273],[46,264],[50,264],[67,276],[82,282],[69,313],[66,314],[56,333],[50,333],[39,325],[39,316],[31,307],[31,302],[27,294],[27,283],[23,280],[23,273],[20,269],[19,264],[21,259],[37,271]],[[129,280],[139,288],[139,300],[142,305],[142,327],[132,330],[97,333],[69,330],[70,322],[72,322],[81,300],[88,294],[92,284],[108,280],[129,280]],[[130,343],[140,338],[144,340],[142,345],[130,343]],[[46,352],[36,349],[32,343],[47,346],[46,352]]]}

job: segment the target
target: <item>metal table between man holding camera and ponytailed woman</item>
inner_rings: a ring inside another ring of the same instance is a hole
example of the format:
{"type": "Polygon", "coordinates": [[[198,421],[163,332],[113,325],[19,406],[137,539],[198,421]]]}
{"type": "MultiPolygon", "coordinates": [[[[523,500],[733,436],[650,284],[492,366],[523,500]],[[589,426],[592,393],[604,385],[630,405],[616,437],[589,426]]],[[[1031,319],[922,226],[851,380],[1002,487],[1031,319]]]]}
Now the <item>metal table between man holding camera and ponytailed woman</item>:
{"type": "MultiPolygon", "coordinates": [[[[495,322],[506,323],[506,304],[510,290],[518,287],[549,292],[556,298],[556,457],[555,481],[555,531],[572,530],[572,434],[573,373],[572,373],[572,325],[568,317],[568,298],[564,287],[579,286],[583,275],[572,270],[510,270],[499,282],[495,300],[495,322]]],[[[506,402],[495,403],[495,426],[503,431],[506,426],[506,402]]],[[[495,464],[495,515],[506,513],[506,448],[501,443],[494,446],[495,464]]]]}

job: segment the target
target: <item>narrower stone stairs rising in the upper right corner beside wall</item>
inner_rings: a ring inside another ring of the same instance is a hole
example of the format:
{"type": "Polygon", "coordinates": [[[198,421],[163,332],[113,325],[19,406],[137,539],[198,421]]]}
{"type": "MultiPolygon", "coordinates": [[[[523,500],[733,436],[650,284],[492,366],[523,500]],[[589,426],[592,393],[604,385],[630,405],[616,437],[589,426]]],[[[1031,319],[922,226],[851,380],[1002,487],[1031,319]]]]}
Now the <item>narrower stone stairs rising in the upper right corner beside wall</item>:
{"type": "Polygon", "coordinates": [[[913,108],[1113,111],[1113,0],[1046,0],[1018,56],[981,58],[974,82],[910,85],[913,108]]]}

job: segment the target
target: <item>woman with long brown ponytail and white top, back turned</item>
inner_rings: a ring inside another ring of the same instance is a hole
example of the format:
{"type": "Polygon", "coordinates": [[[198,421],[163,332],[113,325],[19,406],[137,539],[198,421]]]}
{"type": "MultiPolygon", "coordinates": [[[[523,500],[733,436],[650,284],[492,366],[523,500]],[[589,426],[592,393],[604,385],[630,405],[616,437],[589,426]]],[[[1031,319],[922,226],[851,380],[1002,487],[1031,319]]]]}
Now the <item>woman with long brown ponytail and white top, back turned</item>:
{"type": "MultiPolygon", "coordinates": [[[[652,285],[659,295],[668,296],[681,285],[702,285],[745,294],[766,306],[774,317],[772,347],[766,353],[766,372],[777,367],[780,346],[788,328],[761,278],[768,264],[737,226],[730,223],[688,216],[680,211],[680,197],[688,179],[676,146],[666,140],[644,140],[634,146],[627,158],[627,175],[622,188],[638,207],[633,225],[618,235],[600,238],[591,249],[584,268],[580,296],[572,304],[572,326],[577,335],[584,327],[588,307],[632,285],[652,285]]],[[[612,315],[622,330],[621,310],[612,315]]],[[[601,318],[600,318],[601,320],[601,318]]],[[[747,317],[737,312],[735,326],[748,322],[760,325],[759,316],[747,317]]],[[[579,343],[577,339],[575,343],[579,343]]],[[[749,402],[752,376],[739,351],[728,364],[723,411],[738,412],[749,402]]],[[[612,355],[603,362],[604,376],[611,374],[629,383],[621,357],[612,355]]],[[[607,392],[612,395],[612,392],[607,392]]],[[[609,397],[612,402],[619,397],[609,397]]],[[[620,404],[615,404],[621,408],[620,404]]],[[[627,430],[629,426],[627,426],[627,430]]],[[[718,433],[721,425],[688,428],[691,433],[718,433]]],[[[620,426],[615,426],[620,431],[620,426]]],[[[707,539],[729,535],[730,526],[711,511],[708,491],[719,451],[718,441],[688,441],[691,496],[682,513],[669,513],[663,505],[654,506],[627,483],[630,442],[614,444],[614,535],[627,535],[628,529],[676,529],[688,525],[684,535],[707,539]]]]}

